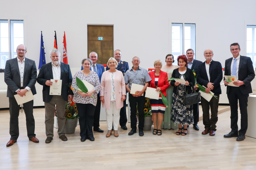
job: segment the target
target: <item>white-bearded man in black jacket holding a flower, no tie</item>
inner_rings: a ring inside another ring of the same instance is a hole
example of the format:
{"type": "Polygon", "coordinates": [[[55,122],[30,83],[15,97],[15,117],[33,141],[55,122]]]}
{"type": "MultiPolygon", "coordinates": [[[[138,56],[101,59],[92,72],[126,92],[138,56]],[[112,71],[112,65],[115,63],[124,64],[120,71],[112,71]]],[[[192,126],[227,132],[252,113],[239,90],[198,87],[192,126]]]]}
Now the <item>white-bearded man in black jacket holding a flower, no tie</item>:
{"type": "Polygon", "coordinates": [[[203,109],[203,135],[210,132],[210,136],[215,135],[216,123],[218,121],[219,95],[221,94],[220,82],[222,81],[222,65],[218,61],[213,61],[213,51],[211,49],[204,50],[205,62],[199,64],[197,68],[197,83],[206,87],[206,93],[214,93],[208,102],[201,96],[201,104],[203,109]],[[209,110],[211,109],[211,118],[209,110]]]}

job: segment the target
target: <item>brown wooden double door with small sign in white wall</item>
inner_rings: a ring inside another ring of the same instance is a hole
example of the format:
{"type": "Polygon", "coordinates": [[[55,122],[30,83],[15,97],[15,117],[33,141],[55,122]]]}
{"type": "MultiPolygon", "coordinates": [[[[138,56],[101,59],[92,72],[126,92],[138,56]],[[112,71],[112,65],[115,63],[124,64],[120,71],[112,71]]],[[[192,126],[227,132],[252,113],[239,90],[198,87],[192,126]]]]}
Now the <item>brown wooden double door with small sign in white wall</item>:
{"type": "Polygon", "coordinates": [[[113,26],[87,26],[87,44],[88,58],[94,51],[98,54],[97,63],[107,64],[114,53],[113,26]],[[98,37],[103,37],[103,40],[98,40],[98,37]]]}

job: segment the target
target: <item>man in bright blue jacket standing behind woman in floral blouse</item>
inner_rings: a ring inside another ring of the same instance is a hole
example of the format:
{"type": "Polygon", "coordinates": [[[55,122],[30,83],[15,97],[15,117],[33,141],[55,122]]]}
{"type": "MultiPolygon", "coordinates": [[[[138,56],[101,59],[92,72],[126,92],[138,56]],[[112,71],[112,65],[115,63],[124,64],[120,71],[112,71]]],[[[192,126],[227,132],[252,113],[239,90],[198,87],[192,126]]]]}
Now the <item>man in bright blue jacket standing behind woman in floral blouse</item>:
{"type": "MultiPolygon", "coordinates": [[[[90,68],[90,70],[94,71],[97,73],[100,82],[101,82],[101,76],[102,73],[105,72],[104,66],[101,64],[97,64],[97,60],[98,60],[98,55],[96,52],[91,52],[89,55],[89,58],[92,61],[92,66],[90,68]]],[[[81,67],[81,70],[83,70],[84,68],[81,67]]],[[[96,108],[95,108],[95,112],[94,112],[94,131],[97,132],[104,132],[103,130],[101,130],[100,127],[100,109],[101,109],[101,101],[100,101],[100,92],[97,94],[97,104],[96,104],[96,108]]]]}

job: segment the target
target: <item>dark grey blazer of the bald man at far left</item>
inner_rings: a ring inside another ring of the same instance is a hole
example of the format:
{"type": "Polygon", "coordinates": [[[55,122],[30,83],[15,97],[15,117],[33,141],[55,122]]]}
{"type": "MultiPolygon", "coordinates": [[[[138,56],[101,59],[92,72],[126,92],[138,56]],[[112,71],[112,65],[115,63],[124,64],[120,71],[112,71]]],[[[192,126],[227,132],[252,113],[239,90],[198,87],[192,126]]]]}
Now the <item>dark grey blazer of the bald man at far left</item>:
{"type": "MultiPolygon", "coordinates": [[[[36,87],[34,86],[36,84],[36,77],[36,63],[34,60],[25,58],[23,87],[30,87],[33,95],[36,94],[36,87]]],[[[17,95],[15,91],[21,88],[17,57],[6,61],[4,81],[7,84],[7,97],[14,98],[14,95],[17,95]]]]}

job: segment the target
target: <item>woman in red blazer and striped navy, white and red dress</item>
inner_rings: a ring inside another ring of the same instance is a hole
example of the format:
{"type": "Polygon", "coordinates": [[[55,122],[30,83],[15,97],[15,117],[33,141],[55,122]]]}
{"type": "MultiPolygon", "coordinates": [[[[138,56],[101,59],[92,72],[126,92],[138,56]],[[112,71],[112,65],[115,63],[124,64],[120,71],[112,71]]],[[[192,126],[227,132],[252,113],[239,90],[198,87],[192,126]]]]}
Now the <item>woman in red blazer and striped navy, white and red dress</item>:
{"type": "MultiPolygon", "coordinates": [[[[149,83],[149,87],[155,88],[156,91],[162,92],[163,95],[166,96],[166,89],[169,87],[168,76],[166,72],[161,71],[162,62],[161,60],[156,60],[154,62],[155,71],[149,72],[151,77],[151,81],[149,83]],[[155,87],[157,86],[157,88],[155,87]]],[[[153,135],[162,135],[161,125],[164,119],[164,113],[166,106],[162,102],[161,94],[159,94],[159,99],[151,99],[151,111],[152,111],[152,119],[154,122],[154,130],[153,135]]]]}

